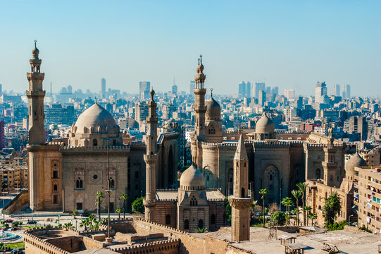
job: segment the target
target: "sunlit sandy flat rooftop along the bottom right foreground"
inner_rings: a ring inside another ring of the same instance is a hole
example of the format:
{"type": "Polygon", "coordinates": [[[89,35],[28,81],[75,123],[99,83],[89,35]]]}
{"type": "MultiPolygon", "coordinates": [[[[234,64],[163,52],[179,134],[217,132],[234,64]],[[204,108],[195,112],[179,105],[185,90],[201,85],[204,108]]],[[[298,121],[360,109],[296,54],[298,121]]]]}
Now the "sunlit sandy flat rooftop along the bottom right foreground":
{"type": "MultiPolygon", "coordinates": [[[[243,241],[240,243],[231,243],[232,246],[242,248],[244,250],[251,250],[256,254],[279,254],[285,253],[285,247],[280,245],[280,240],[268,239],[268,229],[251,227],[250,228],[250,241],[243,241]]],[[[299,236],[295,233],[287,233],[285,231],[277,231],[277,236],[287,234],[295,236],[295,243],[301,243],[308,246],[305,252],[310,253],[324,253],[322,251],[323,243],[331,243],[337,246],[341,253],[377,253],[378,245],[381,243],[381,236],[361,231],[329,231],[318,234],[305,234],[299,236]]],[[[194,234],[198,236],[199,234],[194,234]]],[[[231,241],[230,227],[223,227],[219,231],[207,233],[208,236],[220,238],[223,240],[231,241]]]]}

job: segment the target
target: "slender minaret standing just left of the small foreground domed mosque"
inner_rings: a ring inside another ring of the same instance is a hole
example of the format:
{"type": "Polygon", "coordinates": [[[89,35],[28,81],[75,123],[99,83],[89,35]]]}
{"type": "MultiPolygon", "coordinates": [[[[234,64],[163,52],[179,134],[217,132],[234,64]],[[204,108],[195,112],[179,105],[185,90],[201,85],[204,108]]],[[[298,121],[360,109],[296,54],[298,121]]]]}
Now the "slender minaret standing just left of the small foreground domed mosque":
{"type": "Polygon", "coordinates": [[[144,207],[146,208],[146,220],[151,221],[152,210],[156,204],[156,161],[158,156],[156,154],[157,142],[157,124],[158,118],[156,117],[156,102],[154,101],[155,91],[151,90],[151,100],[148,102],[148,117],[146,118],[148,129],[146,133],[146,155],[144,155],[144,162],[146,162],[146,198],[144,199],[144,207]]]}

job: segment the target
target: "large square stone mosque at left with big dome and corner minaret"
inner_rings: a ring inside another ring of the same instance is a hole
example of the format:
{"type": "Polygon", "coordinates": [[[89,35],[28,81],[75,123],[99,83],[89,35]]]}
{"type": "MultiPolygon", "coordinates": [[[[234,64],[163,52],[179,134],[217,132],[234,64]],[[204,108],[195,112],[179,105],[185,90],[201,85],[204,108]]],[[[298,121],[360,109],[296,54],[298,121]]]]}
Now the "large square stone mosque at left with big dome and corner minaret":
{"type": "MultiPolygon", "coordinates": [[[[28,169],[30,208],[36,210],[75,209],[93,212],[97,191],[111,187],[111,211],[122,207],[119,197],[127,193],[130,202],[144,195],[146,187],[144,143],[123,144],[123,133],[113,116],[99,104],[82,112],[68,137],[45,142],[44,95],[39,50],[32,50],[29,90],[28,169]],[[106,169],[109,174],[106,175],[106,169]]],[[[156,143],[159,188],[177,183],[178,133],[163,133],[156,143]]],[[[102,202],[102,210],[106,202],[102,202]]]]}

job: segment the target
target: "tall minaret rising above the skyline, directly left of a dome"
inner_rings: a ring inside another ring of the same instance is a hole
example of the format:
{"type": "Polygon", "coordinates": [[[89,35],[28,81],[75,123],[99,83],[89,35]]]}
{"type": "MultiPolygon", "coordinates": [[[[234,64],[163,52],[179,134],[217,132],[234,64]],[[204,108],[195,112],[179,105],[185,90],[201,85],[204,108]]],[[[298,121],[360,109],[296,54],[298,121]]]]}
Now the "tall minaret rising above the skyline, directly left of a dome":
{"type": "Polygon", "coordinates": [[[194,80],[196,81],[196,88],[194,88],[194,135],[199,141],[204,141],[204,126],[205,126],[205,94],[206,89],[204,87],[206,75],[202,73],[204,71],[204,66],[202,65],[202,55],[199,58],[199,66],[196,68],[196,76],[194,80]]]}

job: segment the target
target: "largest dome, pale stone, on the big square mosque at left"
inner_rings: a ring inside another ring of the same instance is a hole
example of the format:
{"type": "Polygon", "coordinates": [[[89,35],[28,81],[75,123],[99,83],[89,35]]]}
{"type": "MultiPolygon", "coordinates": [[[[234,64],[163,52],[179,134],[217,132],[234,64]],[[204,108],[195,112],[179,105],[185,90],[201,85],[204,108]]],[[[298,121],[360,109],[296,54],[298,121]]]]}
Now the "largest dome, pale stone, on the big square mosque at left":
{"type": "Polygon", "coordinates": [[[118,133],[119,126],[113,116],[98,103],[80,114],[75,122],[75,133],[118,133]]]}

